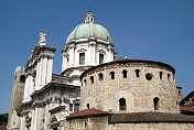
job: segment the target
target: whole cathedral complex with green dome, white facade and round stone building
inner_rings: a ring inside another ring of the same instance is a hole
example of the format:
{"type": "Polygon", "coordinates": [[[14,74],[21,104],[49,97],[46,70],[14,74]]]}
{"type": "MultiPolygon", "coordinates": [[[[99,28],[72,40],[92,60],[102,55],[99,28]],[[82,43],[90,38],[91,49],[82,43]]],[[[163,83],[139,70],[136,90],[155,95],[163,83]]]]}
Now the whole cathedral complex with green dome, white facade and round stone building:
{"type": "Polygon", "coordinates": [[[8,130],[194,130],[181,115],[175,69],[165,63],[116,59],[108,31],[89,11],[68,35],[61,74],[46,34],[14,72],[8,130]]]}

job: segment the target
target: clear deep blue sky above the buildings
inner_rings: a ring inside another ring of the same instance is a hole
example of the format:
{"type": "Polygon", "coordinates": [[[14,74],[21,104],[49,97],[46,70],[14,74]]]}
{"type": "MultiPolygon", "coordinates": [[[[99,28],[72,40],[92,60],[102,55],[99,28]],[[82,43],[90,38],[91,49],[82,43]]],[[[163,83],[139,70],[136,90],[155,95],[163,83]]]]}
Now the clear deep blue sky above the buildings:
{"type": "Polygon", "coordinates": [[[40,32],[57,48],[53,73],[60,74],[66,39],[89,9],[118,58],[170,64],[185,97],[194,90],[193,7],[194,0],[0,0],[0,113],[9,112],[14,69],[25,66],[40,32]]]}

